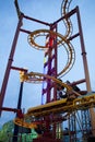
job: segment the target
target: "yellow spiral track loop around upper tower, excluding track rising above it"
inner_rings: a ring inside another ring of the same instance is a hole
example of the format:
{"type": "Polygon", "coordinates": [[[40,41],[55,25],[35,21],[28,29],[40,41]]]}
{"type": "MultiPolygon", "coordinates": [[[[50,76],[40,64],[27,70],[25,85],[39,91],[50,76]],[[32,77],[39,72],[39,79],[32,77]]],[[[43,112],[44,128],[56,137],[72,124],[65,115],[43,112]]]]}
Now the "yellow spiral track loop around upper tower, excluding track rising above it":
{"type": "Polygon", "coordinates": [[[75,60],[74,48],[73,48],[72,44],[69,40],[67,40],[67,38],[64,36],[62,36],[59,33],[49,31],[49,29],[37,29],[37,31],[32,32],[31,35],[28,36],[28,43],[31,44],[31,46],[33,46],[36,49],[45,49],[47,47],[35,43],[35,38],[40,35],[47,36],[47,34],[49,34],[50,36],[57,36],[57,38],[58,38],[57,45],[62,45],[68,55],[68,60],[67,60],[67,63],[66,63],[63,70],[58,73],[58,78],[60,78],[61,75],[69,72],[71,70],[71,68],[73,67],[73,63],[75,60]]]}

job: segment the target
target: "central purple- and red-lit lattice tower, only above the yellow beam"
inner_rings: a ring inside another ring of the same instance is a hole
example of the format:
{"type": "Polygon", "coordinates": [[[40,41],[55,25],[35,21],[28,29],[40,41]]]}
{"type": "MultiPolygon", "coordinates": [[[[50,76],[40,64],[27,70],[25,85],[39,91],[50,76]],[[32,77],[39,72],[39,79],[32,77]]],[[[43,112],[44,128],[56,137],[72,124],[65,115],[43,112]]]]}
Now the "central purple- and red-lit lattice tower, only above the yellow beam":
{"type": "MultiPolygon", "coordinates": [[[[57,32],[57,26],[51,25],[50,31],[57,32]]],[[[46,44],[45,51],[45,62],[44,62],[44,73],[48,75],[52,75],[57,78],[57,37],[48,35],[48,42],[46,44]]],[[[57,87],[55,82],[50,79],[47,80],[44,78],[44,83],[47,83],[45,87],[43,87],[41,98],[45,96],[45,103],[49,103],[52,100],[57,100],[57,87]],[[52,92],[51,92],[52,90],[52,92]],[[52,98],[51,98],[52,94],[52,98]]],[[[41,103],[44,104],[44,102],[41,103]]]]}

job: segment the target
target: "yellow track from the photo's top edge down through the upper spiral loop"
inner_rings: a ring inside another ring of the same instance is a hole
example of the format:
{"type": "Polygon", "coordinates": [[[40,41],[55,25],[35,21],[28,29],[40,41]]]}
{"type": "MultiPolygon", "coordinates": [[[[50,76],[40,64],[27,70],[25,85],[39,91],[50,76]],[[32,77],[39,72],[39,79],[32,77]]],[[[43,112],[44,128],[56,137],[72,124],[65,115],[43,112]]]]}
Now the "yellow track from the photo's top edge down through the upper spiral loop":
{"type": "MultiPolygon", "coordinates": [[[[61,4],[61,16],[67,15],[67,13],[69,12],[69,8],[70,8],[71,1],[72,0],[63,0],[62,1],[62,4],[61,4]]],[[[60,45],[62,45],[64,47],[64,49],[67,50],[67,55],[68,55],[68,59],[67,59],[66,66],[63,67],[62,71],[58,72],[58,74],[57,74],[58,78],[61,78],[64,74],[67,74],[72,69],[72,67],[74,64],[74,61],[75,61],[74,48],[73,48],[72,44],[68,40],[68,38],[71,36],[72,29],[73,29],[72,23],[71,23],[70,17],[63,19],[63,22],[64,22],[64,25],[66,25],[66,35],[61,35],[59,33],[56,33],[56,32],[52,32],[52,31],[49,31],[49,29],[37,29],[37,31],[32,32],[28,35],[28,38],[27,38],[27,40],[28,40],[28,43],[29,43],[29,45],[32,47],[34,47],[34,48],[36,48],[38,50],[39,49],[44,50],[47,47],[38,45],[35,42],[36,38],[38,38],[39,36],[47,36],[47,35],[57,37],[57,45],[58,45],[58,47],[60,45]]]]}

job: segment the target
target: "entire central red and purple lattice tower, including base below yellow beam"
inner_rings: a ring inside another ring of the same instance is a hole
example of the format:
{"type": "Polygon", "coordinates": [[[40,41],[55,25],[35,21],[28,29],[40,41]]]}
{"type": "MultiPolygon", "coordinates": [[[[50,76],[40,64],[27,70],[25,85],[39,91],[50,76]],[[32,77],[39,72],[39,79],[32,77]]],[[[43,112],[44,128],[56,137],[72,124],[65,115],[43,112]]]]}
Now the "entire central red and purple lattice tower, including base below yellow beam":
{"type": "MultiPolygon", "coordinates": [[[[57,25],[50,25],[50,31],[57,32],[57,25]]],[[[57,79],[57,37],[54,35],[47,35],[46,37],[46,49],[44,59],[44,73],[55,76],[57,79]]],[[[57,85],[50,79],[44,78],[43,81],[43,92],[41,92],[41,104],[50,103],[57,100],[57,85]],[[45,98],[45,99],[43,99],[45,98]]],[[[51,116],[45,117],[47,133],[49,133],[50,118],[51,116]]],[[[52,115],[54,119],[54,115],[52,115]]],[[[52,127],[52,137],[56,138],[56,125],[52,127]]]]}

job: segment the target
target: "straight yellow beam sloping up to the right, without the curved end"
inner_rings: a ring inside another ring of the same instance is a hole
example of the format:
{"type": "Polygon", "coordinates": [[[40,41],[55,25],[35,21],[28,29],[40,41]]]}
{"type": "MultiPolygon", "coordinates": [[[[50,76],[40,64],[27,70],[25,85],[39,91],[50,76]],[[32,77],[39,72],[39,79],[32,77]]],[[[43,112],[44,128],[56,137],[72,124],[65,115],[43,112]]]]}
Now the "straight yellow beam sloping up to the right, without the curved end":
{"type": "Polygon", "coordinates": [[[37,107],[32,107],[25,114],[25,117],[29,116],[45,116],[59,113],[70,113],[72,110],[80,110],[84,108],[91,108],[95,106],[95,94],[90,94],[81,96],[73,100],[68,100],[67,98],[40,105],[37,107]]]}

